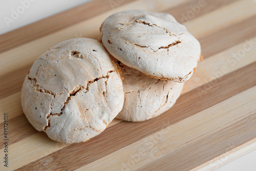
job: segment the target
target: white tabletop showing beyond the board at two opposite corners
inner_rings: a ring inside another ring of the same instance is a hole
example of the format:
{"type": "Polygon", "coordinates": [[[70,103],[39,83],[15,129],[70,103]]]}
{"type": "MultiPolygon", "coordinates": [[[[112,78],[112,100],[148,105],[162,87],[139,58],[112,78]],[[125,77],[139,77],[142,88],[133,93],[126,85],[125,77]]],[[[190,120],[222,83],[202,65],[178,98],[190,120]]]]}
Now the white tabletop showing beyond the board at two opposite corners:
{"type": "MultiPolygon", "coordinates": [[[[10,0],[10,1],[0,1],[0,34],[9,32],[11,30],[23,27],[25,25],[31,24],[46,18],[48,16],[54,15],[61,11],[73,8],[75,6],[84,4],[92,0],[10,0]],[[22,8],[21,2],[31,1],[26,4],[27,8],[22,8]],[[17,9],[18,8],[18,9],[17,9]],[[24,9],[24,10],[23,10],[24,9]],[[5,19],[7,17],[11,18],[13,10],[17,12],[20,10],[19,16],[13,19],[12,22],[6,24],[5,19]]],[[[108,0],[106,0],[108,1],[108,0]]],[[[220,163],[221,164],[221,163],[220,163]]],[[[217,169],[215,171],[256,171],[256,150],[233,160],[217,169]]]]}

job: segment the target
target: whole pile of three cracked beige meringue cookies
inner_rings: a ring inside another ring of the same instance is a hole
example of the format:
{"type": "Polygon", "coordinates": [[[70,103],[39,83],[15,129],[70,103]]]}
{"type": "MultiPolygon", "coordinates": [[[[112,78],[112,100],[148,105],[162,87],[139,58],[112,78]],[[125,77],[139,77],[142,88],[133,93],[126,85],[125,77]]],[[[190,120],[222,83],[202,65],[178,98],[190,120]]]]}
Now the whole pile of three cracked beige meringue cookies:
{"type": "Polygon", "coordinates": [[[23,111],[51,139],[85,142],[115,117],[145,121],[170,109],[201,58],[198,40],[172,15],[115,13],[99,40],[66,40],[35,60],[23,111]]]}

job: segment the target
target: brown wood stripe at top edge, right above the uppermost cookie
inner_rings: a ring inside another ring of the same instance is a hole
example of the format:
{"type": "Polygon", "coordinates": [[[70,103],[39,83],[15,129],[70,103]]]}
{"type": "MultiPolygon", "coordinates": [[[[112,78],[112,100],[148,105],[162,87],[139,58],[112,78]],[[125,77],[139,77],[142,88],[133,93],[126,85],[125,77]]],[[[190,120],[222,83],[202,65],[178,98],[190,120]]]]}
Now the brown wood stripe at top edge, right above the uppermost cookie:
{"type": "Polygon", "coordinates": [[[203,6],[199,3],[202,2],[200,0],[191,0],[186,3],[180,4],[176,7],[170,8],[168,10],[165,10],[165,13],[169,13],[175,17],[177,22],[181,24],[186,24],[190,20],[195,19],[196,17],[202,16],[206,13],[209,13],[211,11],[214,11],[218,8],[222,8],[226,5],[229,5],[231,3],[237,2],[240,0],[215,0],[210,1],[206,0],[203,3],[203,6]],[[199,6],[201,5],[201,7],[199,6]],[[200,7],[200,8],[199,8],[200,7]]]}

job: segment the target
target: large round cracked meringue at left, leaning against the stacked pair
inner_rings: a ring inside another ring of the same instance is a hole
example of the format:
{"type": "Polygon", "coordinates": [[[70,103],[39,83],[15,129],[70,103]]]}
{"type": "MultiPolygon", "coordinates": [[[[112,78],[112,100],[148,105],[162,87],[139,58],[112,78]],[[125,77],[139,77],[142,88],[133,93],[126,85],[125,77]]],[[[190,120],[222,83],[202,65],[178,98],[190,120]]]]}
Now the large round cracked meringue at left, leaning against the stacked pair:
{"type": "Polygon", "coordinates": [[[22,88],[23,111],[56,141],[84,142],[100,134],[123,106],[123,89],[98,40],[63,41],[39,56],[22,88]]]}

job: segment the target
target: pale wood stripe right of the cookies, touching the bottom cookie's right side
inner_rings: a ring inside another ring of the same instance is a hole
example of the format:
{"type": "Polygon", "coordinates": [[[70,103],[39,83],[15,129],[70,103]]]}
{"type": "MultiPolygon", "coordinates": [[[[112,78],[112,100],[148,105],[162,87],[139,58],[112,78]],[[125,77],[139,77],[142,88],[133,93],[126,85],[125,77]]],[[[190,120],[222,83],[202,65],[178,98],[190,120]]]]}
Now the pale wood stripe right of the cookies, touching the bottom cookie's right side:
{"type": "MultiPolygon", "coordinates": [[[[253,42],[256,42],[256,37],[252,38],[253,42]]],[[[188,92],[203,84],[205,88],[210,87],[208,82],[218,79],[221,76],[243,68],[250,63],[256,61],[254,54],[256,54],[256,45],[245,51],[245,55],[238,59],[232,57],[233,53],[238,53],[247,44],[246,41],[237,46],[233,46],[221,53],[218,53],[210,58],[201,61],[193,74],[191,79],[184,84],[182,92],[188,92]]],[[[248,48],[249,45],[246,46],[248,48]]]]}

